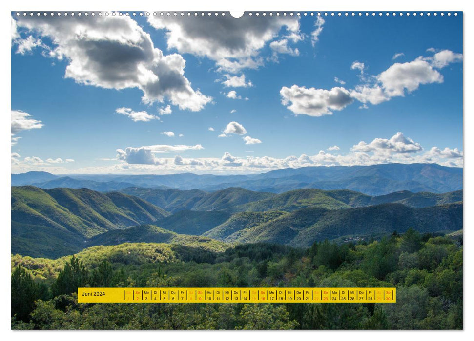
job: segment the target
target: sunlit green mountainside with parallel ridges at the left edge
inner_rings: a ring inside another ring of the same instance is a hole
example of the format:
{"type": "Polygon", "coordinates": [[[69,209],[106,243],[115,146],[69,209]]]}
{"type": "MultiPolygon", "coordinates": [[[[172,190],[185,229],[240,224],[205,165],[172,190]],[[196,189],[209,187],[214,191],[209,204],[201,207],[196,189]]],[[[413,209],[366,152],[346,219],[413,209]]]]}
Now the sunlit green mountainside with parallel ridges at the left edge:
{"type": "Polygon", "coordinates": [[[82,249],[87,237],[169,215],[122,193],[33,186],[11,190],[12,252],[23,254],[58,256],[64,249],[75,250],[73,246],[82,249]]]}

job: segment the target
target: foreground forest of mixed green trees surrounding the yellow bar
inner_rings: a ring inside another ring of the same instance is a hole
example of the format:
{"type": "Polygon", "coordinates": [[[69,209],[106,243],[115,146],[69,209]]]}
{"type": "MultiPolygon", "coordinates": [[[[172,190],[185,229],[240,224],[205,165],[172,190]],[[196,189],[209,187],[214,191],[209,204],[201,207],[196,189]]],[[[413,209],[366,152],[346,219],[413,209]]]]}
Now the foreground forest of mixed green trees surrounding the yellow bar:
{"type": "Polygon", "coordinates": [[[462,329],[462,237],[94,246],[12,256],[14,329],[462,329]],[[77,303],[77,287],[397,288],[396,303],[77,303]]]}

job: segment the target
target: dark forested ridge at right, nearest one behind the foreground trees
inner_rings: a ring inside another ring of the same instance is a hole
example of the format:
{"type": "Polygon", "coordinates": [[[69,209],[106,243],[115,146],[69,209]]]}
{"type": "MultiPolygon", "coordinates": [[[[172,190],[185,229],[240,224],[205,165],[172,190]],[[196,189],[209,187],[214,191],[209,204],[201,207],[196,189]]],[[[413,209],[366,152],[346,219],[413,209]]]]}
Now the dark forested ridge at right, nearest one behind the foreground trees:
{"type": "Polygon", "coordinates": [[[382,204],[365,208],[327,210],[304,208],[267,223],[231,234],[225,241],[235,243],[272,242],[310,246],[318,240],[344,236],[371,236],[405,232],[455,231],[462,228],[462,204],[430,208],[409,208],[382,204]]]}

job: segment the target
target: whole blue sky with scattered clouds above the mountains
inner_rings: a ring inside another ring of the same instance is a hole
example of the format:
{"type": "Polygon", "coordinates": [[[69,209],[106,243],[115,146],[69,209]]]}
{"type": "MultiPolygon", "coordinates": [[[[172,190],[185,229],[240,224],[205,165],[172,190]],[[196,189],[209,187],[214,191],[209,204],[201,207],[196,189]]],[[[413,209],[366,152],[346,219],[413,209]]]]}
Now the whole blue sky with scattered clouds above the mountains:
{"type": "Polygon", "coordinates": [[[461,15],[14,13],[12,172],[460,167],[462,52],[461,15]]]}

